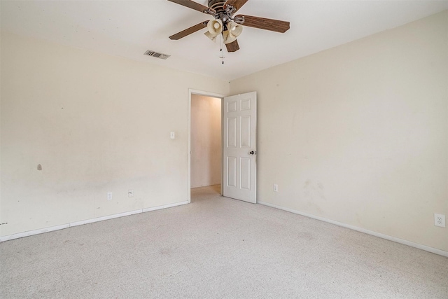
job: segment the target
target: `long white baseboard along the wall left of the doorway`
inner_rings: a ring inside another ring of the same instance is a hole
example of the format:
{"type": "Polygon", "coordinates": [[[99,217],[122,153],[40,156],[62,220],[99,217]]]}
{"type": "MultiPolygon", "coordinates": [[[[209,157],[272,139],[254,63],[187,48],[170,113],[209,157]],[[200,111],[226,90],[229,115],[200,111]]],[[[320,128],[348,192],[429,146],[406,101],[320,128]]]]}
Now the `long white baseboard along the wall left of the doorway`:
{"type": "Polygon", "coordinates": [[[125,213],[120,213],[120,214],[113,214],[113,215],[109,215],[109,216],[91,218],[91,219],[87,219],[87,220],[83,220],[83,221],[76,221],[76,222],[66,223],[66,224],[62,224],[62,225],[50,226],[49,228],[41,228],[39,230],[29,230],[28,232],[19,232],[17,234],[6,235],[3,237],[0,237],[0,242],[9,241],[11,239],[19,239],[22,237],[28,237],[28,236],[32,236],[32,235],[43,234],[44,232],[52,232],[54,230],[63,230],[64,228],[71,228],[73,226],[83,225],[83,224],[87,224],[87,223],[94,223],[94,222],[109,220],[109,219],[113,219],[113,218],[119,218],[119,217],[124,217],[124,216],[145,213],[147,211],[155,211],[158,209],[166,209],[166,208],[170,208],[170,207],[176,207],[176,206],[180,206],[182,204],[188,204],[188,201],[176,202],[174,204],[165,204],[162,206],[151,207],[151,208],[146,208],[146,209],[137,209],[135,211],[127,211],[125,213]]]}

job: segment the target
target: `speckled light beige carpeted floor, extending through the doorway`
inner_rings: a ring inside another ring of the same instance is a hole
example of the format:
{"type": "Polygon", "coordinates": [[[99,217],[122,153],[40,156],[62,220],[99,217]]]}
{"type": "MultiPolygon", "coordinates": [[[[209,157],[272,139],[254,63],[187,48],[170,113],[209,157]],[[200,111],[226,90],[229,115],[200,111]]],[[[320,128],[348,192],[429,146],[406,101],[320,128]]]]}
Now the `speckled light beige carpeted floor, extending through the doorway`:
{"type": "Polygon", "coordinates": [[[0,298],[448,298],[448,258],[218,192],[0,243],[0,298]]]}

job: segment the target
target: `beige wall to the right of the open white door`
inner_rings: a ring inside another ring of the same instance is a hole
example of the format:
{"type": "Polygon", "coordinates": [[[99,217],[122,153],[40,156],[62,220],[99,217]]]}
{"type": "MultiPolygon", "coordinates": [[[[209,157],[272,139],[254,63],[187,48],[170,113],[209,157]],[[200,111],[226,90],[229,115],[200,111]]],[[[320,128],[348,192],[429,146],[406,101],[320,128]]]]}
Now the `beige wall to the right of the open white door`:
{"type": "Polygon", "coordinates": [[[230,83],[253,90],[259,201],[448,251],[447,11],[230,83]]]}

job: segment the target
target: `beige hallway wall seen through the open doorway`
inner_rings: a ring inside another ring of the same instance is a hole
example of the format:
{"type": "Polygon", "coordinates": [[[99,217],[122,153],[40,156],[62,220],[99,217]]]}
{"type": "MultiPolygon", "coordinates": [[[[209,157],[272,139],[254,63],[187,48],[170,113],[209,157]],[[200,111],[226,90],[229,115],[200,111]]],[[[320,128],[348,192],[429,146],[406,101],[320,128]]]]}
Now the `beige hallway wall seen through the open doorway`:
{"type": "Polygon", "coordinates": [[[191,188],[221,183],[221,99],[191,96],[191,188]]]}

